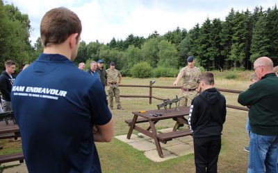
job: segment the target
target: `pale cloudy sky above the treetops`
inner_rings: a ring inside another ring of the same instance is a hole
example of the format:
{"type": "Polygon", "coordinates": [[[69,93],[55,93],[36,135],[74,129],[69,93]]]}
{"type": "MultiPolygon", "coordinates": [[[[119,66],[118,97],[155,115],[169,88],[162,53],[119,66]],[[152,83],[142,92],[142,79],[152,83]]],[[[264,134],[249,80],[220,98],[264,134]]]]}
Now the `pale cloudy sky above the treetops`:
{"type": "Polygon", "coordinates": [[[13,3],[31,21],[32,44],[40,37],[40,20],[51,8],[66,7],[81,19],[81,39],[87,44],[126,39],[129,34],[148,37],[157,30],[163,35],[169,30],[202,24],[206,18],[224,18],[231,8],[251,11],[278,4],[277,0],[3,0],[13,3]]]}

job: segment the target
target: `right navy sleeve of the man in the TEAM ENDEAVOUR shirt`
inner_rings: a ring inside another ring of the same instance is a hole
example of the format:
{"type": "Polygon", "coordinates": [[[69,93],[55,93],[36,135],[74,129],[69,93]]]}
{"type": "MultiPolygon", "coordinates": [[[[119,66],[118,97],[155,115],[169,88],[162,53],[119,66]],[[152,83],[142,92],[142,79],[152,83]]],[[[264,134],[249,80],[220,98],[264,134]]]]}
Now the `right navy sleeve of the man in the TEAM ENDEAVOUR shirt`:
{"type": "Polygon", "coordinates": [[[106,125],[112,118],[111,111],[106,103],[106,93],[100,80],[95,80],[90,87],[88,100],[92,108],[92,122],[95,125],[106,125]]]}

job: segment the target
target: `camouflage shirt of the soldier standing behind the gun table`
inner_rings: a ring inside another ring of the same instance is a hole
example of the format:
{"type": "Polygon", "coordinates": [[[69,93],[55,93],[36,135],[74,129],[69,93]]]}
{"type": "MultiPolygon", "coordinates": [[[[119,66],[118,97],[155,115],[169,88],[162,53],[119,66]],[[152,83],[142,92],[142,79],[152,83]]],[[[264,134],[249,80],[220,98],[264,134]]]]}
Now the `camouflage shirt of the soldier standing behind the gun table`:
{"type": "Polygon", "coordinates": [[[199,84],[199,75],[201,75],[201,71],[198,67],[194,66],[193,69],[190,69],[188,66],[183,67],[179,71],[183,78],[183,89],[196,89],[199,84]]]}

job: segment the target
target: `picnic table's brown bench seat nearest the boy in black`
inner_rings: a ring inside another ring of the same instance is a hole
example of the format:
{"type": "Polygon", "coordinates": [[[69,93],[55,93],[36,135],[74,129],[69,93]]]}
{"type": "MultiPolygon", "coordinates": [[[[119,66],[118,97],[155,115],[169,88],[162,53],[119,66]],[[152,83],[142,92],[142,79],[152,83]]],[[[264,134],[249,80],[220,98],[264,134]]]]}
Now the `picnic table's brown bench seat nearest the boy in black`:
{"type": "Polygon", "coordinates": [[[192,136],[193,133],[189,129],[185,129],[179,131],[171,131],[165,134],[157,134],[157,138],[161,141],[161,143],[166,143],[168,140],[172,140],[173,138],[179,138],[188,135],[192,136]]]}

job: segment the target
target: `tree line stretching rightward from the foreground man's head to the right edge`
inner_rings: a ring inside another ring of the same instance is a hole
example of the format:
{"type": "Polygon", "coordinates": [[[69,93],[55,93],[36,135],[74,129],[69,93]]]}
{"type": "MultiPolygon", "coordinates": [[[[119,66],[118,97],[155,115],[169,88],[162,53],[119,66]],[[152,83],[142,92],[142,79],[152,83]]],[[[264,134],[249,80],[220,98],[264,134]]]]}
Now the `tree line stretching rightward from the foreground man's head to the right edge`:
{"type": "Polygon", "coordinates": [[[125,40],[111,39],[108,44],[81,42],[77,62],[104,59],[116,62],[125,75],[138,62],[152,66],[179,69],[186,58],[194,55],[198,66],[206,70],[252,69],[252,62],[261,56],[278,64],[277,6],[263,10],[229,11],[224,21],[206,19],[186,30],[177,27],[164,35],[157,31],[149,37],[133,34],[125,40]]]}

